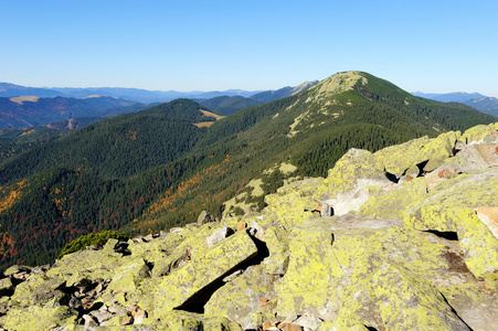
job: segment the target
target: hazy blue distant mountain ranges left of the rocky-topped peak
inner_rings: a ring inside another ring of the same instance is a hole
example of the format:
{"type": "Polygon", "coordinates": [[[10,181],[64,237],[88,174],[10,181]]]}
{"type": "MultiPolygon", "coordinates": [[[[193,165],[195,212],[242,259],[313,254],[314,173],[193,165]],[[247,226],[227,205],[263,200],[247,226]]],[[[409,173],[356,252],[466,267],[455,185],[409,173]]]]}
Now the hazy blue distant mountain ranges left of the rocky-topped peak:
{"type": "Polygon", "coordinates": [[[137,88],[33,88],[0,83],[0,129],[34,127],[56,121],[52,127],[77,128],[102,117],[134,113],[178,98],[190,98],[220,115],[230,115],[243,108],[273,102],[301,92],[318,81],[277,90],[248,92],[227,89],[214,92],[159,92],[137,88]],[[84,117],[84,120],[74,121],[84,117]],[[73,119],[72,121],[68,121],[73,119]],[[63,122],[61,122],[63,121],[63,122]]]}

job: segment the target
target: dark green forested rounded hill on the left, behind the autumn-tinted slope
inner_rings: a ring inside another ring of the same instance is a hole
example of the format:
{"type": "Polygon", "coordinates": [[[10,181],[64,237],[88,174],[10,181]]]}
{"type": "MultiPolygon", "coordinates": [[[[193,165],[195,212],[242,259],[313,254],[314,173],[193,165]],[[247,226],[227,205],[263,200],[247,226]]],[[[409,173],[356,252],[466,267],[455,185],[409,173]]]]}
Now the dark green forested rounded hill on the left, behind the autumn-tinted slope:
{"type": "Polygon", "coordinates": [[[203,129],[192,122],[213,121],[189,99],[178,99],[135,114],[108,118],[63,139],[7,160],[0,182],[7,183],[53,167],[91,169],[105,177],[128,177],[187,153],[203,129]]]}

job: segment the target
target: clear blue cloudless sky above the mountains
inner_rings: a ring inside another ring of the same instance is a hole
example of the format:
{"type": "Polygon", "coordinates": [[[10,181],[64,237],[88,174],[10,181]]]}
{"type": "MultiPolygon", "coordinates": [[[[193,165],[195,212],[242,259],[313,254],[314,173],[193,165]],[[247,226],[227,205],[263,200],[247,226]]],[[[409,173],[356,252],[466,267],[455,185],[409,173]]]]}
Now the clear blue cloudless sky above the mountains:
{"type": "Polygon", "coordinates": [[[276,89],[365,71],[498,97],[498,1],[0,0],[0,82],[276,89]]]}

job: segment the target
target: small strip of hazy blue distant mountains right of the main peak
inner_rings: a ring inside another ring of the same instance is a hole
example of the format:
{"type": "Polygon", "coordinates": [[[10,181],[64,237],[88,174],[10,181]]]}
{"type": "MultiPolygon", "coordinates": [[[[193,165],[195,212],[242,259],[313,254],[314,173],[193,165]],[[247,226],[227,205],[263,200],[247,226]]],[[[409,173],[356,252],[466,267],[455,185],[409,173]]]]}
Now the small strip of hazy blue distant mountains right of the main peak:
{"type": "Polygon", "coordinates": [[[454,92],[445,94],[436,93],[412,93],[415,96],[420,96],[427,99],[433,99],[442,103],[460,103],[477,110],[490,114],[498,117],[498,98],[488,97],[481,95],[480,93],[466,93],[466,92],[454,92]]]}

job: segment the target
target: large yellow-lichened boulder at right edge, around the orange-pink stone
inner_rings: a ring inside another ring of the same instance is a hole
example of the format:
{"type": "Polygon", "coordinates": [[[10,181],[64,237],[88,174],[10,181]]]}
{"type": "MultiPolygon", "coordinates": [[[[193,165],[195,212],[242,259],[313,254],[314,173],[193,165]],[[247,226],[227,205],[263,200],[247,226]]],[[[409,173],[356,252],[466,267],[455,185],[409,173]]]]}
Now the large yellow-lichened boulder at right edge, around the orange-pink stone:
{"type": "Polygon", "coordinates": [[[474,275],[498,278],[498,239],[475,212],[478,206],[498,206],[497,196],[498,168],[460,174],[410,205],[404,222],[418,229],[456,232],[474,275]]]}

